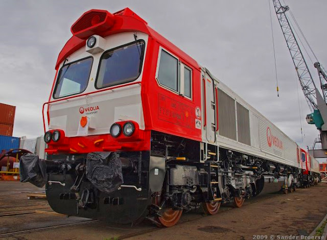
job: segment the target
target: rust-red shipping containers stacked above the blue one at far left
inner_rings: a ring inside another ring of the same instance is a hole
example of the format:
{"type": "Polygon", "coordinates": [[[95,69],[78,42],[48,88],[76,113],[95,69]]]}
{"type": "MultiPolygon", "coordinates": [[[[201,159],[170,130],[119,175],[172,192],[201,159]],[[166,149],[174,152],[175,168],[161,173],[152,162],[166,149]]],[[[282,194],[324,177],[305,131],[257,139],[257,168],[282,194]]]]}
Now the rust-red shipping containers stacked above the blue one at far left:
{"type": "Polygon", "coordinates": [[[15,106],[0,103],[0,135],[12,136],[15,106]]]}

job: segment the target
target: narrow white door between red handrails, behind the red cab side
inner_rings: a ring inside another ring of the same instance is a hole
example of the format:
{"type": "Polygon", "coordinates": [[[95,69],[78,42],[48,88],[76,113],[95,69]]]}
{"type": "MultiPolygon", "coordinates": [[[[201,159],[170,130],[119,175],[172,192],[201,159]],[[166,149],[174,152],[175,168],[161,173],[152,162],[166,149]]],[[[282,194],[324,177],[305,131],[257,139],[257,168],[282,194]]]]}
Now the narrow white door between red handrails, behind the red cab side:
{"type": "Polygon", "coordinates": [[[215,104],[215,83],[214,80],[205,74],[202,79],[204,86],[204,105],[205,105],[205,134],[208,142],[216,142],[216,104],[215,104]]]}

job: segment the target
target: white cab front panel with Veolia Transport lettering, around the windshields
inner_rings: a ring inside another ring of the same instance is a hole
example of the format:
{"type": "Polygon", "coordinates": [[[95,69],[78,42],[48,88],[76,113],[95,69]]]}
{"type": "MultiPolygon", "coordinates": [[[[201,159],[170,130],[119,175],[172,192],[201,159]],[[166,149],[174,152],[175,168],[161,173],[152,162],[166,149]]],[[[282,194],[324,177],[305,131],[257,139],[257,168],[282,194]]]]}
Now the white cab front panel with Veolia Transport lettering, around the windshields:
{"type": "MultiPolygon", "coordinates": [[[[137,39],[145,41],[144,56],[146,56],[148,35],[138,32],[137,39]]],[[[110,35],[105,37],[105,40],[105,51],[135,41],[133,32],[110,35]]],[[[99,90],[96,89],[95,82],[99,61],[103,53],[104,52],[100,52],[92,55],[85,51],[85,47],[81,47],[81,49],[67,57],[68,61],[65,64],[89,56],[94,58],[88,85],[86,90],[80,94],[99,90]]],[[[145,59],[143,59],[143,63],[144,62],[145,59]]],[[[61,63],[61,66],[62,64],[63,63],[61,63]]],[[[133,82],[142,81],[143,66],[141,74],[133,82]]],[[[51,101],[54,100],[56,99],[53,99],[52,96],[51,101]]],[[[78,129],[82,116],[88,117],[88,130],[86,134],[83,132],[82,135],[108,134],[113,123],[128,120],[137,122],[140,129],[145,128],[141,100],[141,85],[139,84],[96,92],[90,95],[83,95],[81,97],[52,103],[49,107],[49,115],[49,129],[62,129],[68,137],[80,135],[78,129]],[[110,94],[108,94],[108,92],[110,92],[110,94]]]]}

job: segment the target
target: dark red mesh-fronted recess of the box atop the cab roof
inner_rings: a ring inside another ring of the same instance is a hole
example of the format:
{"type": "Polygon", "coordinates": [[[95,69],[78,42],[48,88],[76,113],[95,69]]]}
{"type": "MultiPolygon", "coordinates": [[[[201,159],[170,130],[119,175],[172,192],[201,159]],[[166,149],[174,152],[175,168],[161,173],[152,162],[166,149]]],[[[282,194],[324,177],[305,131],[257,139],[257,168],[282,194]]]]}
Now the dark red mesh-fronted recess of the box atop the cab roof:
{"type": "Polygon", "coordinates": [[[97,25],[100,22],[103,22],[106,18],[105,12],[89,12],[86,13],[79,21],[75,23],[72,27],[72,32],[78,33],[84,29],[90,28],[94,25],[97,25]]]}

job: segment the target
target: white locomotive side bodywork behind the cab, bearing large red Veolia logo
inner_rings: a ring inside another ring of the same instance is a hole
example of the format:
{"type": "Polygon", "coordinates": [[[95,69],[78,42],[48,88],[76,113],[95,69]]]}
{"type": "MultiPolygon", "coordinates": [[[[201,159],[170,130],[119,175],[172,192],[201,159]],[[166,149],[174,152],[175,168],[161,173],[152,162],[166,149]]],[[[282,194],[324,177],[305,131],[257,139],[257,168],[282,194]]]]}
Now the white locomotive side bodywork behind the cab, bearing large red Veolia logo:
{"type": "MultiPolygon", "coordinates": [[[[219,122],[219,131],[216,141],[216,144],[219,146],[219,148],[235,150],[245,154],[258,156],[264,159],[268,159],[271,161],[300,168],[300,162],[298,161],[298,157],[297,157],[298,154],[297,154],[296,142],[290,139],[287,135],[285,135],[266,117],[264,117],[260,112],[256,111],[253,107],[251,107],[248,103],[246,103],[241,97],[239,97],[239,95],[233,92],[221,81],[214,78],[212,75],[211,78],[218,83],[218,88],[220,90],[226,93],[228,97],[235,100],[235,108],[230,107],[232,109],[229,109],[229,114],[233,114],[233,111],[236,112],[235,118],[230,118],[230,119],[235,119],[233,120],[235,121],[235,126],[233,127],[233,129],[231,129],[231,127],[228,126],[228,128],[230,128],[228,134],[231,134],[232,137],[226,137],[221,135],[220,133],[221,123],[219,122]],[[241,123],[238,124],[237,105],[239,106],[240,109],[241,108],[243,109],[243,114],[245,112],[246,116],[248,116],[248,120],[245,122],[239,119],[239,122],[242,122],[243,125],[240,125],[241,123]],[[242,135],[245,128],[244,125],[247,124],[248,124],[249,136],[242,135]],[[240,126],[243,128],[243,131],[239,129],[240,126]],[[240,142],[239,141],[240,137],[242,137],[243,142],[248,142],[248,144],[240,142]],[[248,140],[246,140],[246,138],[248,138],[248,140]]],[[[203,89],[202,89],[202,100],[203,100],[203,89]]],[[[233,106],[233,104],[229,104],[229,106],[233,106]]],[[[219,108],[219,114],[222,114],[221,110],[222,109],[219,108]]],[[[204,114],[203,111],[204,108],[202,107],[202,114],[204,114]]],[[[206,139],[206,137],[207,137],[207,131],[205,128],[202,128],[203,142],[210,143],[206,139]]]]}

